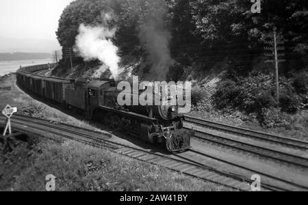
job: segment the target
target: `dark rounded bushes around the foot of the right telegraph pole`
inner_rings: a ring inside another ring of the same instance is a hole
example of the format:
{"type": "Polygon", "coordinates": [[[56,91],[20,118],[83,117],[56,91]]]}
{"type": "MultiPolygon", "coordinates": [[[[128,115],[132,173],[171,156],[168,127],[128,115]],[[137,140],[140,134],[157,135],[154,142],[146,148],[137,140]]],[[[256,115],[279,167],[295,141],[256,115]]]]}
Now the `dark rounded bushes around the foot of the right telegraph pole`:
{"type": "MultiPolygon", "coordinates": [[[[302,81],[303,83],[303,81],[302,81]]],[[[281,111],[286,113],[296,113],[300,107],[300,100],[292,92],[292,83],[290,80],[281,77],[281,111]]],[[[262,109],[270,109],[277,106],[274,99],[274,82],[272,75],[251,74],[251,76],[235,81],[225,81],[220,83],[214,102],[218,109],[233,107],[241,109],[247,113],[262,113],[262,109]]]]}

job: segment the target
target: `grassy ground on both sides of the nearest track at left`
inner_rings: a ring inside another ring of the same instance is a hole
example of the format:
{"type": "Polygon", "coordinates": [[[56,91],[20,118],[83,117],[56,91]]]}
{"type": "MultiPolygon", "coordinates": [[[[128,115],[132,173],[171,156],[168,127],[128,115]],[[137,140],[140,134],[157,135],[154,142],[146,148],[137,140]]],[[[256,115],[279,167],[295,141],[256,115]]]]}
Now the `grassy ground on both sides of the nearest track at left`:
{"type": "MultiPolygon", "coordinates": [[[[0,107],[10,104],[18,107],[19,114],[91,127],[21,92],[15,86],[14,74],[1,77],[2,87],[5,89],[0,90],[0,107]]],[[[34,133],[25,136],[24,141],[17,143],[12,152],[0,154],[1,191],[44,191],[45,178],[49,174],[56,176],[58,191],[229,190],[107,150],[62,139],[52,133],[34,133]]]]}

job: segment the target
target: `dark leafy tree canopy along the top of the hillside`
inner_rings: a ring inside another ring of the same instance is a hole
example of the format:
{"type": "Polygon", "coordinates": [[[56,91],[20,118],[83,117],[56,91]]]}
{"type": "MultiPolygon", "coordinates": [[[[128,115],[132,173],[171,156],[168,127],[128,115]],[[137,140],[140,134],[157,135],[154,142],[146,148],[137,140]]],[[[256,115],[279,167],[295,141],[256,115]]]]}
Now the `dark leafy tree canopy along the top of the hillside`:
{"type": "Polygon", "coordinates": [[[200,58],[209,64],[226,55],[244,63],[243,58],[263,52],[260,42],[273,27],[288,40],[288,53],[293,54],[288,57],[298,53],[307,58],[305,0],[264,0],[261,14],[253,14],[251,6],[247,0],[77,0],[64,10],[57,37],[62,46],[71,47],[81,23],[101,24],[102,12],[110,12],[115,17],[112,25],[118,28],[114,40],[123,55],[142,49],[139,31],[153,21],[154,27],[170,30],[172,56],[181,64],[200,58]]]}

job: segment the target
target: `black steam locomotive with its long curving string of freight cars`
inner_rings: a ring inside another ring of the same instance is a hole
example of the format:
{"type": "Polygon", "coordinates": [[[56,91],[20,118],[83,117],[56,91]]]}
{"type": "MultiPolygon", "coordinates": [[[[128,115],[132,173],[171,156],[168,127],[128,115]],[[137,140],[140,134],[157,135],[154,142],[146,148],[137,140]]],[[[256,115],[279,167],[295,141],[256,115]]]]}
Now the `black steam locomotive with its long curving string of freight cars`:
{"type": "MultiPolygon", "coordinates": [[[[49,102],[75,109],[88,120],[103,122],[115,131],[138,137],[170,152],[190,148],[189,131],[184,131],[183,116],[177,106],[133,106],[117,104],[118,94],[114,80],[78,81],[44,77],[34,74],[54,65],[29,66],[16,72],[21,88],[49,102]]],[[[133,94],[131,94],[133,97],[133,94]]]]}

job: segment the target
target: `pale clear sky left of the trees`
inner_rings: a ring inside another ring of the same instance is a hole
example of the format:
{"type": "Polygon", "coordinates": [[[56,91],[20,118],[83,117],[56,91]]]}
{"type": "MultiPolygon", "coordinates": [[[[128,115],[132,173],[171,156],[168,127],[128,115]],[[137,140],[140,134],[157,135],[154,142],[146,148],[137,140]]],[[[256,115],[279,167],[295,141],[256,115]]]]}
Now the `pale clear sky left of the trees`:
{"type": "Polygon", "coordinates": [[[0,36],[56,40],[58,20],[73,0],[0,0],[0,36]]]}

